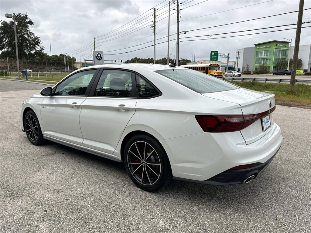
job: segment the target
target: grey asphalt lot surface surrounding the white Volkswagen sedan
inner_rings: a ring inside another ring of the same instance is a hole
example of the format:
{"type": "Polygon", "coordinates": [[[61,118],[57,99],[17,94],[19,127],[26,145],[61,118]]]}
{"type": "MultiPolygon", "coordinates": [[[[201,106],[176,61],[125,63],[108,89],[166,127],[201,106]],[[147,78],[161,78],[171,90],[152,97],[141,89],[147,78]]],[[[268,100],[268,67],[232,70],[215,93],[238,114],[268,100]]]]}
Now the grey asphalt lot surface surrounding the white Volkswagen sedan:
{"type": "Polygon", "coordinates": [[[247,185],[173,180],[148,193],[122,164],[21,131],[23,100],[46,85],[0,80],[0,232],[310,232],[311,110],[276,106],[284,137],[247,185]]]}

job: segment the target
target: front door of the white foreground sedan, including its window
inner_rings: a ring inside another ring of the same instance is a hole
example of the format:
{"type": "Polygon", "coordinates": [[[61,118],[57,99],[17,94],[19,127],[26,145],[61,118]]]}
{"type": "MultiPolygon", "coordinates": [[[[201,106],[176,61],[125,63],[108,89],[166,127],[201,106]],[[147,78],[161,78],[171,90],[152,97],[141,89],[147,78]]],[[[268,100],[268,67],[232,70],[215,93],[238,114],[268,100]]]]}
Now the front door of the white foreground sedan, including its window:
{"type": "Polygon", "coordinates": [[[44,135],[83,145],[79,122],[81,104],[98,71],[92,69],[75,73],[54,87],[52,96],[44,97],[41,103],[44,135]]]}

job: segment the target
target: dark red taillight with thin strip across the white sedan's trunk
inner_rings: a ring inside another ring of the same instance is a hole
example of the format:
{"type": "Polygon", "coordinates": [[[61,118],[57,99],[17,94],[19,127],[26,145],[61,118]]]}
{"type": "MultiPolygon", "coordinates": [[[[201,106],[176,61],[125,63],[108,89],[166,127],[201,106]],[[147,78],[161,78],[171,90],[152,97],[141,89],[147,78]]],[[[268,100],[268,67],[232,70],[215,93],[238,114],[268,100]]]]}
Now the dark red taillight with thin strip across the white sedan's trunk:
{"type": "Polygon", "coordinates": [[[197,115],[195,118],[204,132],[234,132],[245,129],[259,118],[267,116],[274,110],[275,106],[268,111],[252,115],[197,115]]]}

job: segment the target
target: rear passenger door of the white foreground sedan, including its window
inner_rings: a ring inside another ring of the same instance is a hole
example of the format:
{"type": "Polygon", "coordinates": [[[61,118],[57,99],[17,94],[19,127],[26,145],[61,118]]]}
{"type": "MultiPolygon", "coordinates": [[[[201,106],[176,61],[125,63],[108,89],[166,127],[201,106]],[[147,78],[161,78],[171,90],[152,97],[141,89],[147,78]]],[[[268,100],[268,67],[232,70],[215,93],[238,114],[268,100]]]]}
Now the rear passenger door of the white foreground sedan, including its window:
{"type": "Polygon", "coordinates": [[[104,69],[95,80],[90,96],[81,104],[83,145],[100,152],[114,153],[125,127],[135,113],[136,103],[134,73],[104,69]]]}

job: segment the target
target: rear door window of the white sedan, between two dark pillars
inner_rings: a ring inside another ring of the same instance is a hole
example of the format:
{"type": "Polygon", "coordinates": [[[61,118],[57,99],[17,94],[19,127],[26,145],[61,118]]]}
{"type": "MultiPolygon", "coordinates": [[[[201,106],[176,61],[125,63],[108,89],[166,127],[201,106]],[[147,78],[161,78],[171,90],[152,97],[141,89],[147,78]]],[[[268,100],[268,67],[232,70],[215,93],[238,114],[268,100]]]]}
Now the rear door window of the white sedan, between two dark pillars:
{"type": "Polygon", "coordinates": [[[132,73],[120,70],[104,70],[98,81],[95,96],[134,97],[132,73]]]}

